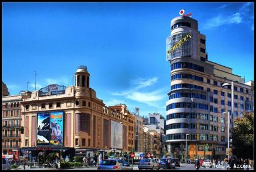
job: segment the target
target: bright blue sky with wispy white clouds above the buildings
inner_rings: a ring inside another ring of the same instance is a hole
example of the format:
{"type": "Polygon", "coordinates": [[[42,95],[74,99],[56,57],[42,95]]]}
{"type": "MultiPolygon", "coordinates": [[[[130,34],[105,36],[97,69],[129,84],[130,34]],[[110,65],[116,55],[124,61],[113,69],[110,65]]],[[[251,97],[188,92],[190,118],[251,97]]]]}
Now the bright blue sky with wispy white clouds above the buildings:
{"type": "Polygon", "coordinates": [[[79,65],[107,105],[140,115],[166,114],[170,66],[166,38],[179,10],[206,36],[208,60],[254,79],[253,2],[4,2],[2,81],[10,94],[48,84],[72,85],[79,65]]]}

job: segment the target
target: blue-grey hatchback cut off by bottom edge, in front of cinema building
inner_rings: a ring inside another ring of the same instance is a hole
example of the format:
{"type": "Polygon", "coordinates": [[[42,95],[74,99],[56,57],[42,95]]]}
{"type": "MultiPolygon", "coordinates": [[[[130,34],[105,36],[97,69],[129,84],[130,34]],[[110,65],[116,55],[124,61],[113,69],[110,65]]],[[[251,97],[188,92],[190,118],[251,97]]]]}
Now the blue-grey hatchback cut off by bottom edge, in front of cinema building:
{"type": "Polygon", "coordinates": [[[105,159],[98,165],[97,170],[133,170],[133,168],[121,159],[105,159]]]}

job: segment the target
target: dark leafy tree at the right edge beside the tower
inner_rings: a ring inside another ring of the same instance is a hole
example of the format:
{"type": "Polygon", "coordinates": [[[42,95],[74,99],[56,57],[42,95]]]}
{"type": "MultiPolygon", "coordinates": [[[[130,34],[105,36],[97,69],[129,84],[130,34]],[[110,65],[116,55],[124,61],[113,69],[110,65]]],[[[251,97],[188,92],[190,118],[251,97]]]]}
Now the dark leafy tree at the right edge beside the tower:
{"type": "Polygon", "coordinates": [[[241,158],[254,157],[254,113],[247,112],[235,120],[232,132],[233,155],[241,158]]]}

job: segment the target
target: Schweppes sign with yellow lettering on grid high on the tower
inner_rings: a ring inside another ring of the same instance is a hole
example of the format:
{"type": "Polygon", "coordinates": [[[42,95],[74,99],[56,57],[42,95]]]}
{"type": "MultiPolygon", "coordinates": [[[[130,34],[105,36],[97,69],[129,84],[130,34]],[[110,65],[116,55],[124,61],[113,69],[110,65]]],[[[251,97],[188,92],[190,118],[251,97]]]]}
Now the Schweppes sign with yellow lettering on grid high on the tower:
{"type": "Polygon", "coordinates": [[[166,60],[190,56],[192,51],[191,37],[192,33],[182,31],[166,38],[166,60]]]}

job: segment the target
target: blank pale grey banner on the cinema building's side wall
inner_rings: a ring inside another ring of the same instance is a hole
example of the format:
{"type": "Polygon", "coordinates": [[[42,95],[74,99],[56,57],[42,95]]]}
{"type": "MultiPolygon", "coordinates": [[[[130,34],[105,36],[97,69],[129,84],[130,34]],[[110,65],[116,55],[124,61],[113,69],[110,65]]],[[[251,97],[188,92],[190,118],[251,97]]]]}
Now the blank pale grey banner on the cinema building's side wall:
{"type": "Polygon", "coordinates": [[[110,128],[111,148],[123,149],[123,125],[119,122],[111,121],[110,128]]]}

